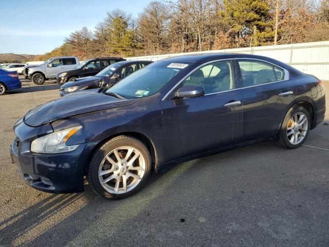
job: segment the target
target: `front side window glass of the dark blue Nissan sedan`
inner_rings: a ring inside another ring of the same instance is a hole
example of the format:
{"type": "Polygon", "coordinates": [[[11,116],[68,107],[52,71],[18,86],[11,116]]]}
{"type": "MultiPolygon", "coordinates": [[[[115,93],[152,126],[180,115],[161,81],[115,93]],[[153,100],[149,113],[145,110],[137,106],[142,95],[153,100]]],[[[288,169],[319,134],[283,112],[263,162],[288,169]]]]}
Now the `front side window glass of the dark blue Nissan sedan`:
{"type": "Polygon", "coordinates": [[[207,64],[193,72],[182,86],[202,86],[206,94],[235,89],[231,61],[207,64]]]}

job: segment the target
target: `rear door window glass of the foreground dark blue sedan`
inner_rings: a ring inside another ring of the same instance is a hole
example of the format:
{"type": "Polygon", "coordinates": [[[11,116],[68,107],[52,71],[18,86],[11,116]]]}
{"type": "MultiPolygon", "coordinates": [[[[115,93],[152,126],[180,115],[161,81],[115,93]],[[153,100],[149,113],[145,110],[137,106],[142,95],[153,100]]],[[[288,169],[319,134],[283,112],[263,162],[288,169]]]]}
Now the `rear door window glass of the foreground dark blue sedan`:
{"type": "Polygon", "coordinates": [[[276,81],[273,66],[256,61],[239,61],[244,86],[254,86],[276,81]]]}

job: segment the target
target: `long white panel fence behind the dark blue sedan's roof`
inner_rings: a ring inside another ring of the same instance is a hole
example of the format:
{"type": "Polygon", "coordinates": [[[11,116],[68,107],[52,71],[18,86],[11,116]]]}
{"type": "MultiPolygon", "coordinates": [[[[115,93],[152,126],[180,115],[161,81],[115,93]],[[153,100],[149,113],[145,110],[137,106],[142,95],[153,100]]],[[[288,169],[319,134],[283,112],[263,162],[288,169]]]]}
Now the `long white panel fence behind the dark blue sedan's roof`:
{"type": "Polygon", "coordinates": [[[321,80],[329,80],[329,41],[223,50],[207,50],[177,54],[131,57],[126,59],[158,61],[164,58],[182,55],[212,53],[244,53],[266,56],[289,64],[301,70],[303,73],[315,75],[321,80]]]}

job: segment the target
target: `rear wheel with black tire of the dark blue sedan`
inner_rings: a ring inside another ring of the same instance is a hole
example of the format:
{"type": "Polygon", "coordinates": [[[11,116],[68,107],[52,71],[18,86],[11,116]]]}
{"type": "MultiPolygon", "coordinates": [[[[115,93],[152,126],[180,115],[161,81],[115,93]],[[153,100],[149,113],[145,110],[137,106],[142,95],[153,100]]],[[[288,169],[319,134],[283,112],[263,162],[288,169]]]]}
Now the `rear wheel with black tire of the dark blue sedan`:
{"type": "Polygon", "coordinates": [[[292,107],[283,120],[277,143],[283,148],[298,148],[305,142],[309,129],[308,111],[303,107],[292,107]]]}

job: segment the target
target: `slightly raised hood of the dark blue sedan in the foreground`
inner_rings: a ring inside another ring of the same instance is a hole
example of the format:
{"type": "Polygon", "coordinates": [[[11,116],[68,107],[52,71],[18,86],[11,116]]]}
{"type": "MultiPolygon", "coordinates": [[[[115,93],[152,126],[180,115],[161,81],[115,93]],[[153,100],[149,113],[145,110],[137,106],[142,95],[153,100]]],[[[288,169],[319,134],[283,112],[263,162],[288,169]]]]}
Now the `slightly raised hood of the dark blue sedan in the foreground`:
{"type": "Polygon", "coordinates": [[[123,107],[136,102],[136,99],[118,99],[98,91],[99,89],[80,91],[39,105],[24,116],[24,122],[37,127],[62,118],[123,107]]]}

